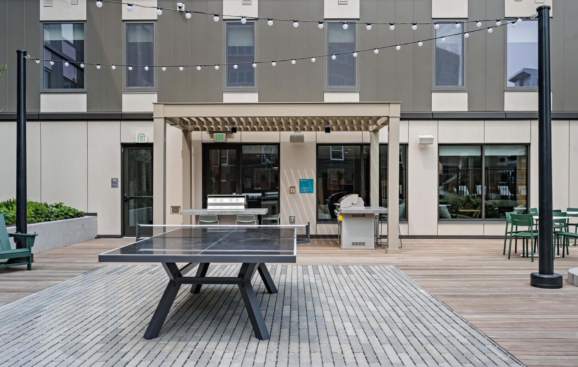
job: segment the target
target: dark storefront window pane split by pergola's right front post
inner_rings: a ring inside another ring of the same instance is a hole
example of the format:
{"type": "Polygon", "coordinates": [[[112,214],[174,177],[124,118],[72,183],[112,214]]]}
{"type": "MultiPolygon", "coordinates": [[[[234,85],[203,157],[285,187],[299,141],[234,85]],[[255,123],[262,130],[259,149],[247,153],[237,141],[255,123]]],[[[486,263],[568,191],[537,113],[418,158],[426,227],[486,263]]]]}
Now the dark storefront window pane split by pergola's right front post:
{"type": "MultiPolygon", "coordinates": [[[[387,207],[387,144],[379,146],[380,205],[387,207]]],[[[399,146],[399,218],[407,218],[407,145],[399,146]]]]}

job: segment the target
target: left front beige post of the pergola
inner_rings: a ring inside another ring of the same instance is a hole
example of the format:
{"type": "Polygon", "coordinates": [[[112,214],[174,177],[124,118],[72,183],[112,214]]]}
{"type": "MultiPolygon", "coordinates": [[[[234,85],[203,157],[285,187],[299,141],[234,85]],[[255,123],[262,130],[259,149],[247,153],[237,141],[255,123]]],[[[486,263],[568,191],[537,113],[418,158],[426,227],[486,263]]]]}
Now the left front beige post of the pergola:
{"type": "Polygon", "coordinates": [[[166,223],[166,121],[155,117],[153,143],[153,223],[166,223]]]}

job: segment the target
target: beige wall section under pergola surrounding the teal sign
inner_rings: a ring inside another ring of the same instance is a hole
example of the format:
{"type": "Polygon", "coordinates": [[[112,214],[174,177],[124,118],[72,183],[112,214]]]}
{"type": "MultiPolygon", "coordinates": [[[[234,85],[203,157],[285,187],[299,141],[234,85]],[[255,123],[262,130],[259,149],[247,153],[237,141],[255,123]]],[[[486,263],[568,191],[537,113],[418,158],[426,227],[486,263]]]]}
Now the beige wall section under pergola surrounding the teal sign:
{"type": "Polygon", "coordinates": [[[303,143],[290,143],[289,134],[289,132],[281,132],[279,144],[281,224],[289,224],[289,217],[294,216],[297,224],[311,223],[312,234],[315,234],[317,190],[314,190],[313,194],[299,194],[299,179],[316,179],[316,160],[311,159],[317,154],[315,133],[304,132],[305,142],[303,143]],[[295,194],[289,193],[291,186],[295,186],[295,194]]]}

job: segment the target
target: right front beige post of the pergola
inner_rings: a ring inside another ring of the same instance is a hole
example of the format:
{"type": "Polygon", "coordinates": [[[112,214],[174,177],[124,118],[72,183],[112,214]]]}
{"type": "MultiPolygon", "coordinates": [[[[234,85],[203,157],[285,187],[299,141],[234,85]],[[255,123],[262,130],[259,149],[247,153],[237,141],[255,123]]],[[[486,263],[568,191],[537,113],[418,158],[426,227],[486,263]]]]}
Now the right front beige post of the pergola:
{"type": "Polygon", "coordinates": [[[387,253],[399,254],[399,117],[387,131],[387,253]]]}

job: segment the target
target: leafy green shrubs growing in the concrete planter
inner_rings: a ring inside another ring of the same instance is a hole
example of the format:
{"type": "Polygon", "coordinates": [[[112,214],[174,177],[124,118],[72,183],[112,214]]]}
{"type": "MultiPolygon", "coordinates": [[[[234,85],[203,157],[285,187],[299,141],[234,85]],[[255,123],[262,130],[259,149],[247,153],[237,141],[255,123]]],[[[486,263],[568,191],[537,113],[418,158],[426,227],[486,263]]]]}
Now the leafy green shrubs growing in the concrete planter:
{"type": "MultiPolygon", "coordinates": [[[[0,202],[0,214],[4,214],[6,225],[16,223],[16,199],[9,199],[0,202]]],[[[66,206],[63,203],[40,203],[36,201],[27,202],[28,223],[49,222],[60,219],[71,219],[84,216],[84,212],[66,206]]]]}

